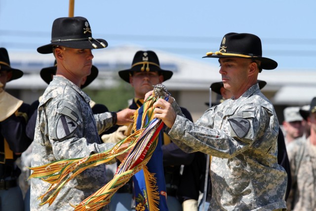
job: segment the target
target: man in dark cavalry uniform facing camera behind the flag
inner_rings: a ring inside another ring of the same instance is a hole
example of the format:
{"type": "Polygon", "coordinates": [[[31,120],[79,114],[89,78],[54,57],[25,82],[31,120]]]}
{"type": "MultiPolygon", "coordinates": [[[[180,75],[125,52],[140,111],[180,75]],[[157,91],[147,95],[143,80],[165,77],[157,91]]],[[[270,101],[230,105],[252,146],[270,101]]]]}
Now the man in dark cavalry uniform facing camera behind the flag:
{"type": "MultiPolygon", "coordinates": [[[[133,58],[131,68],[118,72],[119,77],[125,82],[131,84],[134,88],[134,98],[132,99],[129,108],[138,109],[141,107],[144,103],[145,94],[148,91],[153,90],[153,85],[161,84],[162,82],[170,79],[172,74],[173,73],[171,71],[160,68],[158,56],[154,51],[137,51],[133,58]]],[[[186,117],[192,121],[191,114],[188,110],[182,108],[182,111],[186,117]]],[[[181,203],[176,197],[178,187],[180,185],[180,167],[181,165],[189,165],[193,161],[195,154],[183,152],[178,146],[170,141],[170,138],[166,135],[163,135],[161,148],[157,146],[156,150],[162,151],[164,174],[160,176],[161,178],[164,177],[162,182],[165,182],[166,185],[167,207],[170,211],[181,211],[181,203]]],[[[153,159],[154,158],[151,160],[153,159]]],[[[161,161],[158,161],[158,163],[159,162],[161,161]]],[[[157,174],[155,176],[157,176],[157,174]]],[[[187,189],[192,190],[190,187],[194,182],[195,181],[191,181],[191,183],[187,184],[187,189]]],[[[163,185],[164,184],[160,183],[160,186],[163,185]]],[[[120,188],[114,195],[110,203],[110,210],[133,210],[133,208],[130,208],[131,200],[132,183],[130,181],[120,188]]],[[[162,202],[160,201],[160,203],[162,202]]]]}

